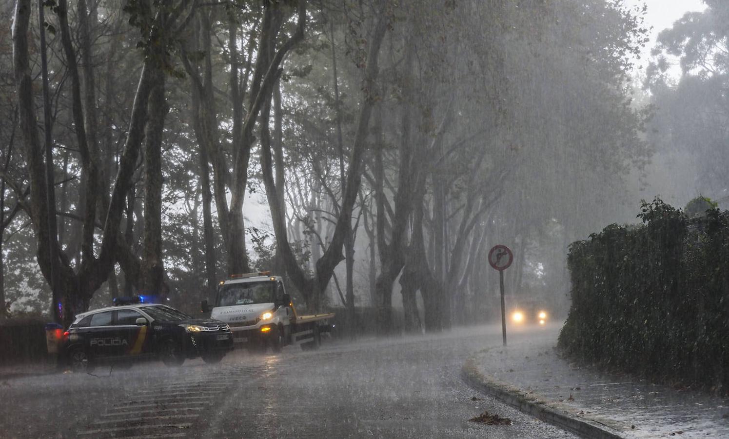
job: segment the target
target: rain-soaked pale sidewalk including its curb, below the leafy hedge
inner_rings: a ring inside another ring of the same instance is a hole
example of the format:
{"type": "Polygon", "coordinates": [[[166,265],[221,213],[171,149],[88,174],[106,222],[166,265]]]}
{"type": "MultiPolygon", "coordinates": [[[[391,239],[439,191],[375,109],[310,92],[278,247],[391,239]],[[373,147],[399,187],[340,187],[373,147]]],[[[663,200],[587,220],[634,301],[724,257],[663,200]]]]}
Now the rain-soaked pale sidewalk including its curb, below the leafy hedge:
{"type": "Polygon", "coordinates": [[[472,385],[593,438],[729,438],[729,400],[580,368],[555,350],[558,327],[513,337],[464,365],[472,385]]]}

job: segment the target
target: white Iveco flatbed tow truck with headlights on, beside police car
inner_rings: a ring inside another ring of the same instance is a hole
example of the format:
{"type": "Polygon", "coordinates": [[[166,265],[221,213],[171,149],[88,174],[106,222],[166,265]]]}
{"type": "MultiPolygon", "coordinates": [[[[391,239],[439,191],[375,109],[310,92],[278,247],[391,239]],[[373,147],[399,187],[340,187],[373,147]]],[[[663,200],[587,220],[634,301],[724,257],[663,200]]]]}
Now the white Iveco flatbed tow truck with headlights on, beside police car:
{"type": "Polygon", "coordinates": [[[214,306],[203,300],[200,308],[230,326],[236,346],[252,349],[318,349],[321,334],[333,327],[329,321],[334,313],[297,315],[283,279],[270,271],[231,275],[218,284],[214,306]]]}

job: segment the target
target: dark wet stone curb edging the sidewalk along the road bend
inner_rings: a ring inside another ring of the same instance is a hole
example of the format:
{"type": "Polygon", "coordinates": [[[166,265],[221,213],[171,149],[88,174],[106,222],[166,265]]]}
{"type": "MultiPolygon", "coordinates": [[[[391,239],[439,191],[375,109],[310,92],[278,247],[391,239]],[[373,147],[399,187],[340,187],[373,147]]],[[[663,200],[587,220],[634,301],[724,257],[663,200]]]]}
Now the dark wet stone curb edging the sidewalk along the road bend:
{"type": "Polygon", "coordinates": [[[490,376],[480,373],[472,357],[466,360],[461,368],[461,376],[473,389],[491,395],[502,403],[507,403],[523,413],[528,413],[537,419],[549,422],[555,427],[573,432],[582,438],[588,439],[624,439],[615,430],[597,421],[587,419],[576,419],[570,416],[567,411],[547,405],[544,400],[534,396],[522,395],[519,389],[505,384],[490,376]]]}

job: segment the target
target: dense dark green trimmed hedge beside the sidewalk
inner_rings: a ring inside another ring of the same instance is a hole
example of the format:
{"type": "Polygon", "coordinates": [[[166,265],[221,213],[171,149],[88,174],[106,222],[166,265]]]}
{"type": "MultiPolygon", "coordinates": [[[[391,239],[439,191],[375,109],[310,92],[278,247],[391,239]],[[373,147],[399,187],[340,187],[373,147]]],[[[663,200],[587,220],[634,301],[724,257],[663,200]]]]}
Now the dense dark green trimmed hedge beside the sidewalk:
{"type": "Polygon", "coordinates": [[[729,390],[729,211],[689,219],[656,199],[643,225],[569,248],[570,356],[658,381],[729,390]]]}

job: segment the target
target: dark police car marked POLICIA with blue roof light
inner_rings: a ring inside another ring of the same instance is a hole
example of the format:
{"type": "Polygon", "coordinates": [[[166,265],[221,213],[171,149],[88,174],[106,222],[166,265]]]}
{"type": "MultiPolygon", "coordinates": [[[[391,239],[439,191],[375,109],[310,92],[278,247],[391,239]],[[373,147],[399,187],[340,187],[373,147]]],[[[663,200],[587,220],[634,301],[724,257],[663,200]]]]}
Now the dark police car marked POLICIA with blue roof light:
{"type": "Polygon", "coordinates": [[[63,334],[63,354],[71,370],[90,371],[100,362],[128,367],[145,358],[170,366],[195,357],[216,363],[233,349],[225,322],[195,319],[170,306],[140,303],[139,298],[117,298],[114,304],[77,315],[63,334]]]}

